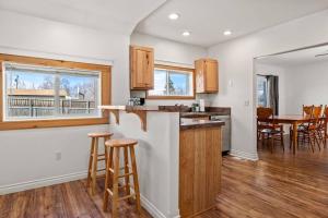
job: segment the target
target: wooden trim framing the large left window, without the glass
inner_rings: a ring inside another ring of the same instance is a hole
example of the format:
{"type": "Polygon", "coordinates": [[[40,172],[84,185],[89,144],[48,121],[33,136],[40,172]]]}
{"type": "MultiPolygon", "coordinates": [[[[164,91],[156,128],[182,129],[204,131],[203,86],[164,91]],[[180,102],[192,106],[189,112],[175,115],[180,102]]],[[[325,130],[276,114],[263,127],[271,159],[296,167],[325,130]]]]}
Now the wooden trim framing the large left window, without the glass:
{"type": "Polygon", "coordinates": [[[3,121],[3,92],[2,92],[2,63],[15,62],[22,64],[43,65],[52,68],[67,68],[75,70],[99,71],[102,77],[102,97],[101,105],[110,105],[112,102],[112,66],[92,63],[81,63],[63,60],[51,60],[43,58],[23,57],[0,53],[0,131],[2,130],[21,130],[36,128],[60,128],[60,126],[79,126],[108,124],[108,112],[103,111],[102,118],[72,118],[72,119],[54,119],[54,120],[28,120],[28,121],[3,121]]]}

